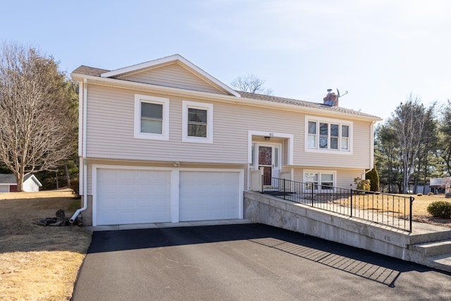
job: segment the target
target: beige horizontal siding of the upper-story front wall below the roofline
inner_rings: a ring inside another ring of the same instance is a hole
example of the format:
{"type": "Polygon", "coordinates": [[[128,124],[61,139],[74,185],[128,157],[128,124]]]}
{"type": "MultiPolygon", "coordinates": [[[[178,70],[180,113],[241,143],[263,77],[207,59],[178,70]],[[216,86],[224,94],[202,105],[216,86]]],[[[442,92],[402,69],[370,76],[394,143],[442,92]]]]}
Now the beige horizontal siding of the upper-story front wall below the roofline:
{"type": "MultiPolygon", "coordinates": [[[[149,94],[136,92],[137,94],[149,94]]],[[[353,154],[304,152],[304,115],[300,112],[261,109],[256,106],[207,102],[190,97],[149,94],[169,99],[169,141],[135,139],[135,92],[89,85],[87,157],[143,161],[181,161],[247,164],[248,130],[292,134],[294,166],[318,168],[370,168],[371,123],[353,121],[353,154]],[[182,142],[182,102],[214,105],[212,144],[182,142]]],[[[288,143],[283,142],[287,162],[288,143]]]]}

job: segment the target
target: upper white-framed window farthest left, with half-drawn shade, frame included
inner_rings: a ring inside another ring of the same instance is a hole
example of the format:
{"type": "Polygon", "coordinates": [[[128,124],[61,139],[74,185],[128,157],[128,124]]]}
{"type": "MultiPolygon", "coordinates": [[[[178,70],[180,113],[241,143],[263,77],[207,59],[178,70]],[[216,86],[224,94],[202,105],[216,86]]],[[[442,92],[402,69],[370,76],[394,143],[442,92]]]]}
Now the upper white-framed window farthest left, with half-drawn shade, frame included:
{"type": "Polygon", "coordinates": [[[135,94],[135,138],[169,140],[169,99],[135,94]]]}

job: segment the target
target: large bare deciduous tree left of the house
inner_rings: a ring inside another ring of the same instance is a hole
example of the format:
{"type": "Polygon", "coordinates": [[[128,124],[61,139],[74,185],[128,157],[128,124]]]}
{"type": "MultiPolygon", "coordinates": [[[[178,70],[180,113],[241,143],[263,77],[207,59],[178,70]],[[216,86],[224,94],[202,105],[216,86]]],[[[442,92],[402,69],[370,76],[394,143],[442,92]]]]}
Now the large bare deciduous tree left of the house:
{"type": "Polygon", "coordinates": [[[0,53],[0,161],[16,176],[50,171],[73,152],[68,80],[52,57],[4,44],[0,53]]]}

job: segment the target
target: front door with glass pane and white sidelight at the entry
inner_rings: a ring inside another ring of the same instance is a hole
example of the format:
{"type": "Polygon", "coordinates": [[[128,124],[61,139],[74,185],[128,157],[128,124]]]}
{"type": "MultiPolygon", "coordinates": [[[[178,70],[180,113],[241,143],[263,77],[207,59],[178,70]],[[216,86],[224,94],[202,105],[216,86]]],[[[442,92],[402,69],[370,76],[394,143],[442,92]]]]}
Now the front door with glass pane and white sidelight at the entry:
{"type": "Polygon", "coordinates": [[[280,171],[280,145],[257,144],[257,166],[263,168],[264,183],[271,185],[271,178],[278,178],[280,171]]]}

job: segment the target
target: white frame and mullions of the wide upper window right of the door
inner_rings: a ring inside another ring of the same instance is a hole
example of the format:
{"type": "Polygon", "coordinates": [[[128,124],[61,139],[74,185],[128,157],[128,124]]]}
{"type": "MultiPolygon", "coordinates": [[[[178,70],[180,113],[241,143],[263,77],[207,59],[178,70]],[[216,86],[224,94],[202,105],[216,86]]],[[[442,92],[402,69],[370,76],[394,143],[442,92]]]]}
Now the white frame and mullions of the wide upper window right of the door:
{"type": "Polygon", "coordinates": [[[309,116],[306,115],[304,117],[304,152],[315,152],[317,154],[345,154],[345,155],[352,155],[354,145],[353,145],[353,139],[352,136],[354,135],[354,122],[353,121],[347,121],[347,120],[340,120],[340,119],[333,119],[333,118],[322,118],[319,116],[309,116]],[[317,131],[316,131],[316,148],[310,148],[309,147],[309,121],[314,121],[316,123],[330,123],[338,124],[340,125],[340,133],[341,133],[341,127],[342,125],[349,125],[349,149],[341,149],[341,134],[338,137],[338,149],[321,149],[319,148],[319,124],[316,125],[317,131]]]}

